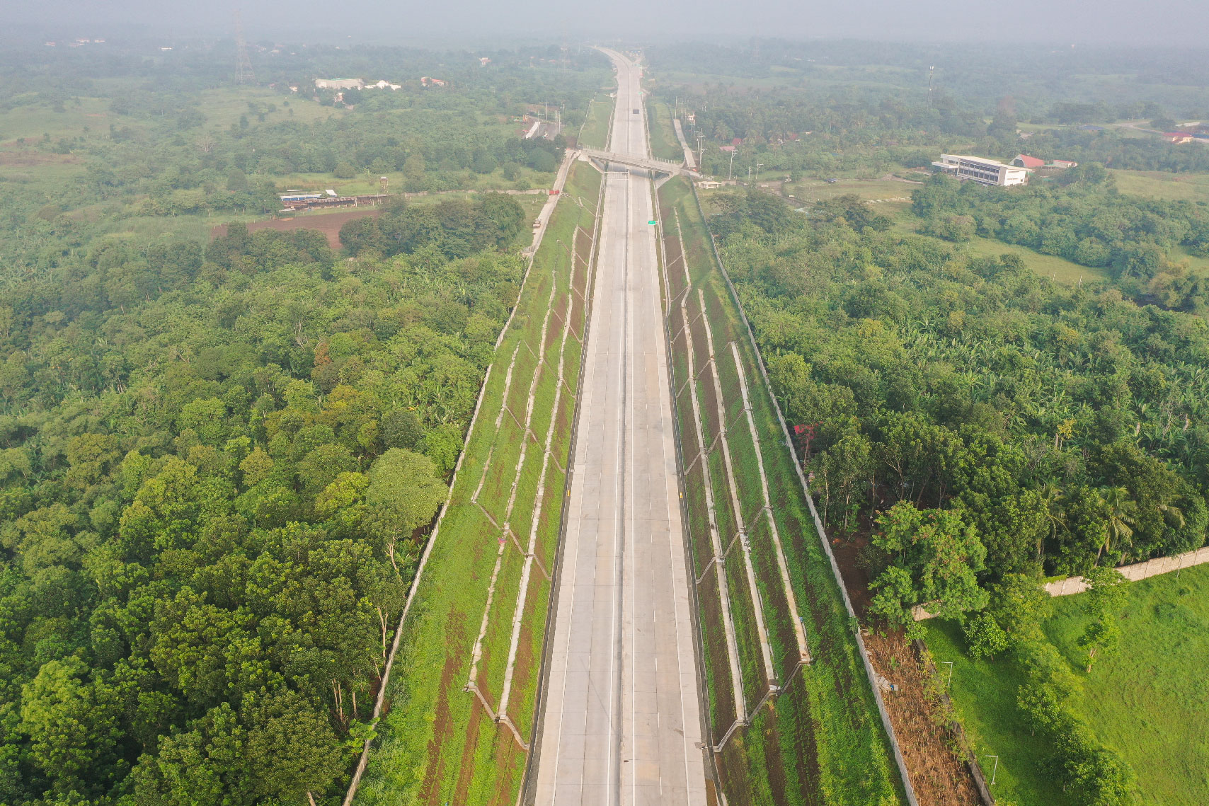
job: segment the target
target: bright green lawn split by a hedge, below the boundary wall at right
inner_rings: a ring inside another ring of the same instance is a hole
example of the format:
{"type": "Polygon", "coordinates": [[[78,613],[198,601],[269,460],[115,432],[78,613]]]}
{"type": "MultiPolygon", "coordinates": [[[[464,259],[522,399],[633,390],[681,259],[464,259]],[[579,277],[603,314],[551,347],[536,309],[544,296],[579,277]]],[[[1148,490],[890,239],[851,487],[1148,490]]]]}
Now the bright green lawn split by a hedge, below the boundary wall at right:
{"type": "MultiPolygon", "coordinates": [[[[1130,582],[1121,617],[1121,644],[1086,673],[1077,644],[1088,615],[1084,596],[1054,599],[1042,628],[1083,679],[1076,712],[1138,776],[1139,801],[1155,806],[1209,802],[1209,567],[1130,582]]],[[[1048,773],[1049,748],[1035,738],[1016,706],[1023,674],[1014,662],[973,661],[961,630],[927,624],[937,662],[953,661],[953,701],[973,752],[990,775],[996,799],[1017,806],[1063,806],[1060,776],[1048,773]]],[[[945,667],[942,674],[947,674],[945,667]]]]}

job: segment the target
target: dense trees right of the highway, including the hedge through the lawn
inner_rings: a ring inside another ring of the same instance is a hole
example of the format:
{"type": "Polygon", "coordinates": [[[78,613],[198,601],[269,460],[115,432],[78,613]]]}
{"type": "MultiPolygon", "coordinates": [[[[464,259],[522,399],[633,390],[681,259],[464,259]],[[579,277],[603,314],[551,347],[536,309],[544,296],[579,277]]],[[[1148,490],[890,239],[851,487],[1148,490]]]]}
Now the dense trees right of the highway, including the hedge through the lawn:
{"type": "Polygon", "coordinates": [[[1135,771],[1075,711],[1082,683],[1039,628],[1037,581],[1091,581],[1089,671],[1120,642],[1113,567],[1205,544],[1209,323],[890,232],[855,197],[809,218],[758,192],[716,209],[821,515],[868,537],[870,615],[919,636],[926,605],[973,657],[1012,657],[1048,773],[1072,802],[1132,802],[1135,771]]]}

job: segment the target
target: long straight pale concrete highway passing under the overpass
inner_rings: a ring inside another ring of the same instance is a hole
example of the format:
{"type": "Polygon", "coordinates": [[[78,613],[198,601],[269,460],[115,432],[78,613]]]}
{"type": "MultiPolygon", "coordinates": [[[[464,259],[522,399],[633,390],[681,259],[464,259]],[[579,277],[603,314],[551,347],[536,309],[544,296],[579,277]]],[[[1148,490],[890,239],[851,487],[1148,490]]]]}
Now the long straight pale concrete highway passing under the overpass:
{"type": "MultiPolygon", "coordinates": [[[[604,52],[608,150],[649,157],[641,70],[604,52]]],[[[705,806],[652,182],[620,166],[604,179],[533,791],[543,806],[705,806]]]]}

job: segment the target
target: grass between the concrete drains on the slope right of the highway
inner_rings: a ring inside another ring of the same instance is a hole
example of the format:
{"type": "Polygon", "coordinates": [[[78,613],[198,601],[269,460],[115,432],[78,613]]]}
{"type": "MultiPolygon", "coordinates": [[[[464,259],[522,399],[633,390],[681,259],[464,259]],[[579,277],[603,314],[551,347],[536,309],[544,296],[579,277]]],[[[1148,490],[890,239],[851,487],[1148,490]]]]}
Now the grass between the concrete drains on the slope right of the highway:
{"type": "MultiPolygon", "coordinates": [[[[794,458],[785,443],[773,401],[739,318],[739,309],[713,261],[710,234],[693,199],[692,189],[684,180],[676,179],[664,185],[659,199],[669,256],[667,283],[675,312],[671,317],[672,331],[675,334],[679,326],[679,295],[686,285],[682,265],[677,261],[678,215],[692,288],[689,319],[699,311],[695,300],[696,290],[701,289],[718,363],[722,407],[727,417],[735,470],[734,483],[745,526],[748,528],[752,564],[763,601],[774,669],[779,682],[786,685],[785,691],[753,714],[752,724],[737,731],[718,755],[722,789],[728,801],[735,805],[828,802],[866,806],[901,802],[898,772],[878,717],[839,586],[815,532],[794,470],[794,458]],[[759,463],[742,413],[741,399],[737,402],[735,400],[741,393],[737,388],[737,367],[729,347],[731,342],[739,347],[740,363],[747,379],[769,497],[785,545],[792,590],[802,610],[799,614],[787,611],[787,596],[779,575],[771,533],[762,514],[764,500],[759,463]],[[799,615],[805,625],[814,662],[788,679],[798,656],[793,619],[799,615]]],[[[704,344],[698,343],[704,338],[704,327],[694,325],[690,330],[695,369],[700,372],[708,358],[702,349],[704,344]]],[[[687,341],[683,337],[672,342],[671,363],[678,392],[677,418],[686,451],[684,462],[689,463],[693,459],[689,453],[695,453],[696,441],[693,436],[695,425],[690,396],[687,392],[679,392],[684,387],[688,365],[687,341]]],[[[712,441],[711,429],[717,428],[717,413],[710,412],[715,406],[710,372],[712,369],[702,373],[696,387],[702,424],[707,424],[707,446],[712,441]]],[[[729,480],[721,462],[721,451],[719,440],[715,442],[708,457],[719,528],[733,518],[729,480]]],[[[712,555],[707,547],[710,534],[705,520],[707,511],[704,492],[699,489],[702,481],[702,475],[695,468],[686,476],[687,528],[696,578],[702,575],[704,563],[712,555]]],[[[722,537],[727,544],[734,535],[722,537]]],[[[763,680],[759,646],[753,645],[753,628],[748,626],[753,617],[752,596],[742,573],[740,552],[741,547],[736,543],[725,563],[727,582],[731,592],[731,615],[739,633],[747,706],[753,708],[757,703],[750,692],[759,689],[759,696],[763,696],[767,685],[763,680]],[[751,680],[750,675],[756,679],[751,680]]],[[[730,704],[727,646],[721,627],[717,626],[721,605],[713,579],[711,570],[698,587],[698,599],[699,621],[705,633],[702,651],[713,730],[711,738],[718,742],[722,736],[717,731],[729,727],[734,708],[730,704]]]]}

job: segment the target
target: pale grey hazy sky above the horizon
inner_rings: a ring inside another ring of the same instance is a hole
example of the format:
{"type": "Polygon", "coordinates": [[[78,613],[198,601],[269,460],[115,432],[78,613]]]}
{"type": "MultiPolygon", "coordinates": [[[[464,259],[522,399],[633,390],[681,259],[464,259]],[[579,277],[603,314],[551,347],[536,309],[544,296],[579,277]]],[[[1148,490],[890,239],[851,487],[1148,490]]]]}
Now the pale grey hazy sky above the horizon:
{"type": "MultiPolygon", "coordinates": [[[[249,39],[307,36],[334,40],[424,37],[451,40],[549,39],[566,30],[575,41],[621,36],[629,41],[781,36],[944,41],[953,39],[1203,46],[1207,0],[0,0],[0,19],[66,35],[122,25],[157,34],[229,35],[243,7],[249,39]]],[[[104,30],[100,30],[104,29],[104,30]]]]}

